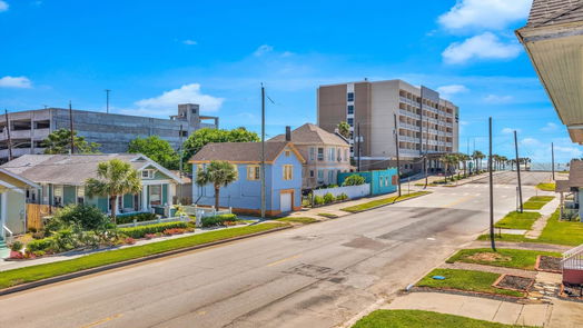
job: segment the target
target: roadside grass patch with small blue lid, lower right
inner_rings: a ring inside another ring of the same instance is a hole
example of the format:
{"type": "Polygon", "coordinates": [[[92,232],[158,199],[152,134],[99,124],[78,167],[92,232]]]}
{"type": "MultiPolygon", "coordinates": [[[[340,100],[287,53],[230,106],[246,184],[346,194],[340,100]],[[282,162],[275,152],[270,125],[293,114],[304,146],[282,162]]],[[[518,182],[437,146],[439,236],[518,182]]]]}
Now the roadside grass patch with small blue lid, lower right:
{"type": "Polygon", "coordinates": [[[524,294],[521,291],[492,287],[492,284],[494,284],[500,276],[498,274],[484,271],[435,269],[417,282],[417,286],[524,297],[524,294]],[[433,279],[433,276],[443,276],[445,280],[433,279]]]}

